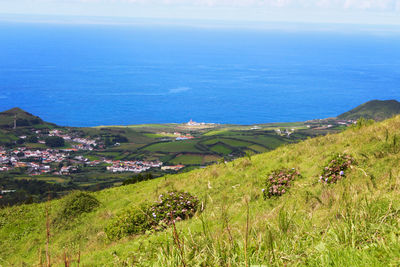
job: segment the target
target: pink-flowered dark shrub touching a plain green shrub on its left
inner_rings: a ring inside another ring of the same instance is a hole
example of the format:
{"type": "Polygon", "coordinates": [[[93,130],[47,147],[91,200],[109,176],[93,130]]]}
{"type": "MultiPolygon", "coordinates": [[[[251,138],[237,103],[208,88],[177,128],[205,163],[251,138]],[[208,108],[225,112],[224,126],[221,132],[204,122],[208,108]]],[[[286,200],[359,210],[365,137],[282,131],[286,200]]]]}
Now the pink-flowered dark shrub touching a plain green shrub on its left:
{"type": "Polygon", "coordinates": [[[159,196],[159,201],[151,206],[151,216],[158,226],[167,226],[175,221],[193,217],[199,201],[187,192],[172,191],[159,196]]]}

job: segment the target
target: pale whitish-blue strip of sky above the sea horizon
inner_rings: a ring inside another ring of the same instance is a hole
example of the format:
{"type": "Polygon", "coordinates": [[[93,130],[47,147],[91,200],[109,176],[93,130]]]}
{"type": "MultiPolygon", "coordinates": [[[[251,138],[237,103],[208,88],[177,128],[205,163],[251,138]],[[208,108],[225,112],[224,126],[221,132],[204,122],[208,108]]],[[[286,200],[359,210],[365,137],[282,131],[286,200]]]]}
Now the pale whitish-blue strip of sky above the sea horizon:
{"type": "Polygon", "coordinates": [[[0,14],[400,25],[400,0],[0,0],[0,14]]]}

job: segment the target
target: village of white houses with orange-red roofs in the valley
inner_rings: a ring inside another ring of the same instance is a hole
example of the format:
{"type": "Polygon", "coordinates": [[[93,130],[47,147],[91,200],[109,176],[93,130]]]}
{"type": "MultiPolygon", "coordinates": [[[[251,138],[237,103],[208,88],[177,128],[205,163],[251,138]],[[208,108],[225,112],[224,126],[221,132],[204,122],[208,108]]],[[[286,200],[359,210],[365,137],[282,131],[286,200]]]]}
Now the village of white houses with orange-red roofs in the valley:
{"type": "MultiPolygon", "coordinates": [[[[19,146],[12,149],[0,147],[0,172],[7,172],[20,169],[24,174],[36,176],[41,174],[52,175],[70,175],[79,172],[81,167],[95,167],[104,165],[105,170],[118,172],[141,173],[152,168],[160,170],[180,170],[184,165],[164,166],[160,161],[121,161],[102,158],[98,160],[89,160],[85,156],[76,155],[78,151],[92,151],[97,148],[103,148],[99,139],[89,139],[76,137],[60,130],[51,130],[43,134],[40,130],[34,133],[40,137],[57,136],[67,141],[70,148],[36,148],[32,149],[26,146],[19,146]]],[[[27,136],[20,136],[20,139],[27,139],[27,136]]],[[[190,137],[188,137],[190,138],[190,137]]],[[[45,144],[43,138],[38,139],[39,144],[45,144]]],[[[116,143],[115,145],[118,145],[116,143]]]]}

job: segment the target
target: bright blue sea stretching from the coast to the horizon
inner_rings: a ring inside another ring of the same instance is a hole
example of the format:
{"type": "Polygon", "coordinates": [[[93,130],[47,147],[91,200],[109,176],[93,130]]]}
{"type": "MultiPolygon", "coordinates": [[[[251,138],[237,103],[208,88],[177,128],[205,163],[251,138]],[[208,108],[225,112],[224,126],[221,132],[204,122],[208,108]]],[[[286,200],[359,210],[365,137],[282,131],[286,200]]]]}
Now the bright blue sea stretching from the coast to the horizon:
{"type": "Polygon", "coordinates": [[[66,126],[255,124],[400,100],[400,35],[0,23],[0,109],[66,126]]]}

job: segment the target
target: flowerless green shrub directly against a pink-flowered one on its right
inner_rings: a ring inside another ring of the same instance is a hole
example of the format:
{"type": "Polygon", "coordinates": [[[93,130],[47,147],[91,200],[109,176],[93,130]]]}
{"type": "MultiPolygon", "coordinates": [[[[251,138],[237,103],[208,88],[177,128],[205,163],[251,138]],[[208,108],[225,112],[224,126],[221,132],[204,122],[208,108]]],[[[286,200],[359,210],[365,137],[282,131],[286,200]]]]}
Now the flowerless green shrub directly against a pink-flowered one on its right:
{"type": "Polygon", "coordinates": [[[111,240],[120,239],[132,234],[141,234],[150,230],[155,224],[149,214],[150,207],[142,205],[130,208],[117,215],[105,228],[111,240]]]}

